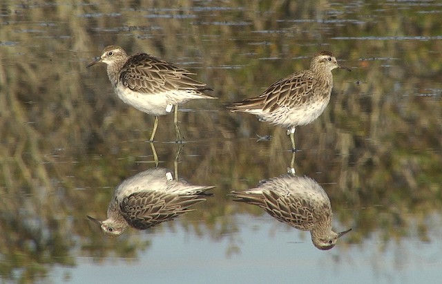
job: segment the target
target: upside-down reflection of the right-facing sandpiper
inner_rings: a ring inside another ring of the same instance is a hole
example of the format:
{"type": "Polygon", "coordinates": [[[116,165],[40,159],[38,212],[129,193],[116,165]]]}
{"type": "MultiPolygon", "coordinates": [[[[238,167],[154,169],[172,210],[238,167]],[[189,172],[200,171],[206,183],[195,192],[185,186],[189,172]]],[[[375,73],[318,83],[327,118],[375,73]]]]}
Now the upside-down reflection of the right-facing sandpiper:
{"type": "Polygon", "coordinates": [[[332,206],[324,189],[313,179],[285,174],[247,191],[232,191],[234,201],[258,205],[276,220],[310,231],[318,249],[332,249],[338,238],[352,229],[332,230],[332,206]]]}

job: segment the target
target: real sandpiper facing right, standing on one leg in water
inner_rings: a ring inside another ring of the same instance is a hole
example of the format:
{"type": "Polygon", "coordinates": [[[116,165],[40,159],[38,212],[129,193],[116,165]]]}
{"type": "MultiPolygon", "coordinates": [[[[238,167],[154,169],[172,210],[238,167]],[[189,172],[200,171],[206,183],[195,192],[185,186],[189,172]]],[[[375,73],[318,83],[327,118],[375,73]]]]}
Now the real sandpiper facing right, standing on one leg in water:
{"type": "Polygon", "coordinates": [[[333,88],[332,70],[341,66],[329,51],[316,53],[309,70],[293,73],[273,83],[258,97],[227,106],[231,111],[258,115],[260,120],[287,128],[293,151],[296,126],[313,122],[323,113],[333,88]]]}

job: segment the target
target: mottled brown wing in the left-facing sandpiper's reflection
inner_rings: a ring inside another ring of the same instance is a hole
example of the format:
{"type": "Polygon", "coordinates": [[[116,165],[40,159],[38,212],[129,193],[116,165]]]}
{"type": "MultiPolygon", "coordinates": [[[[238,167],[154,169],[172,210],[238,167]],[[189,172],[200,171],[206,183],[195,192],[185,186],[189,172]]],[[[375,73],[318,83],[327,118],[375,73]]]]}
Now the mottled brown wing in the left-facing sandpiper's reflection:
{"type": "Polygon", "coordinates": [[[146,191],[124,198],[119,208],[129,225],[147,229],[192,211],[189,207],[204,200],[200,196],[146,191]]]}

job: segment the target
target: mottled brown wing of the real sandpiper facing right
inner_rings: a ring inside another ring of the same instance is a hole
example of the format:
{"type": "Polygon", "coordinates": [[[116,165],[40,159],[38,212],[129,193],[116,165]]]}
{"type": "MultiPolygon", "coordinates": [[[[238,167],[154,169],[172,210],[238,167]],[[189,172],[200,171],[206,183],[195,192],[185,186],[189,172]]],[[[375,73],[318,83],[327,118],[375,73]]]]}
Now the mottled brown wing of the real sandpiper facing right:
{"type": "Polygon", "coordinates": [[[260,109],[270,113],[280,106],[291,108],[309,100],[313,95],[313,85],[313,74],[309,70],[304,70],[271,84],[260,96],[235,102],[228,108],[232,111],[260,109]]]}

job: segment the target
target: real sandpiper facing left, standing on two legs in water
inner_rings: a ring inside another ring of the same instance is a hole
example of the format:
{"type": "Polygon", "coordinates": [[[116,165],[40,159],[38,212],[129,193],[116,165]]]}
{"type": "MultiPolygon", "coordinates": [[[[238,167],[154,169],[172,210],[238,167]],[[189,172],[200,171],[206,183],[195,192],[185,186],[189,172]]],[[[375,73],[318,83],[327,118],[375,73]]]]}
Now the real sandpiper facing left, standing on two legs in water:
{"type": "Polygon", "coordinates": [[[175,106],[175,131],[177,141],[181,141],[182,135],[177,124],[178,104],[192,99],[215,99],[204,94],[204,91],[211,88],[189,77],[195,73],[146,53],[128,56],[119,46],[107,46],[102,55],[87,67],[98,63],[107,65],[109,81],[123,102],[139,111],[155,115],[150,141],[155,138],[159,115],[171,113],[175,106]]]}

